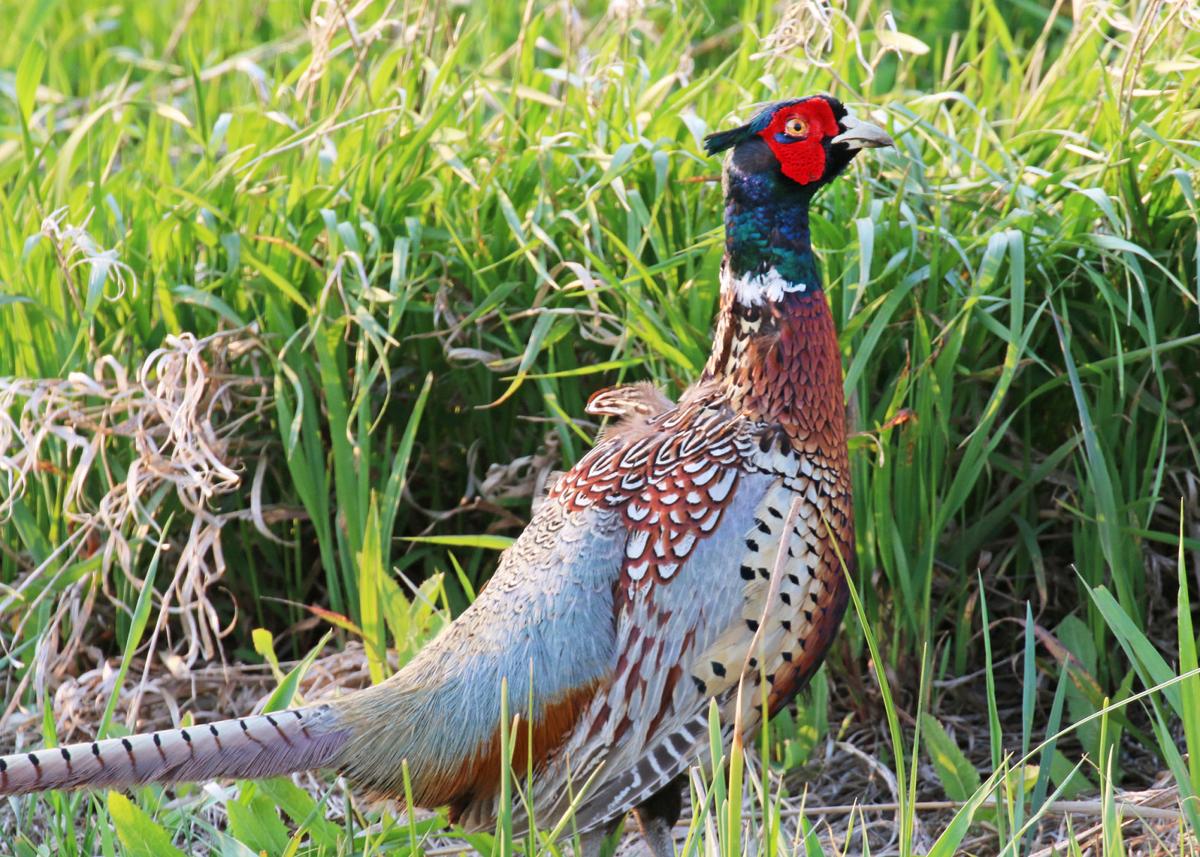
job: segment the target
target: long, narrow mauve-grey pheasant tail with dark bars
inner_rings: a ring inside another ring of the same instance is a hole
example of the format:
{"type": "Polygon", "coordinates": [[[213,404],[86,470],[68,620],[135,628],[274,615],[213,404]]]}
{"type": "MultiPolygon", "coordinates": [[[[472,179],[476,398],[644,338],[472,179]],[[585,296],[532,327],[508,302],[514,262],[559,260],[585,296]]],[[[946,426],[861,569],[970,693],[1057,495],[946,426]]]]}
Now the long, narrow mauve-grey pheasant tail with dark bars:
{"type": "Polygon", "coordinates": [[[328,705],[0,756],[0,796],[49,789],[256,779],[336,765],[349,738],[328,705]]]}

